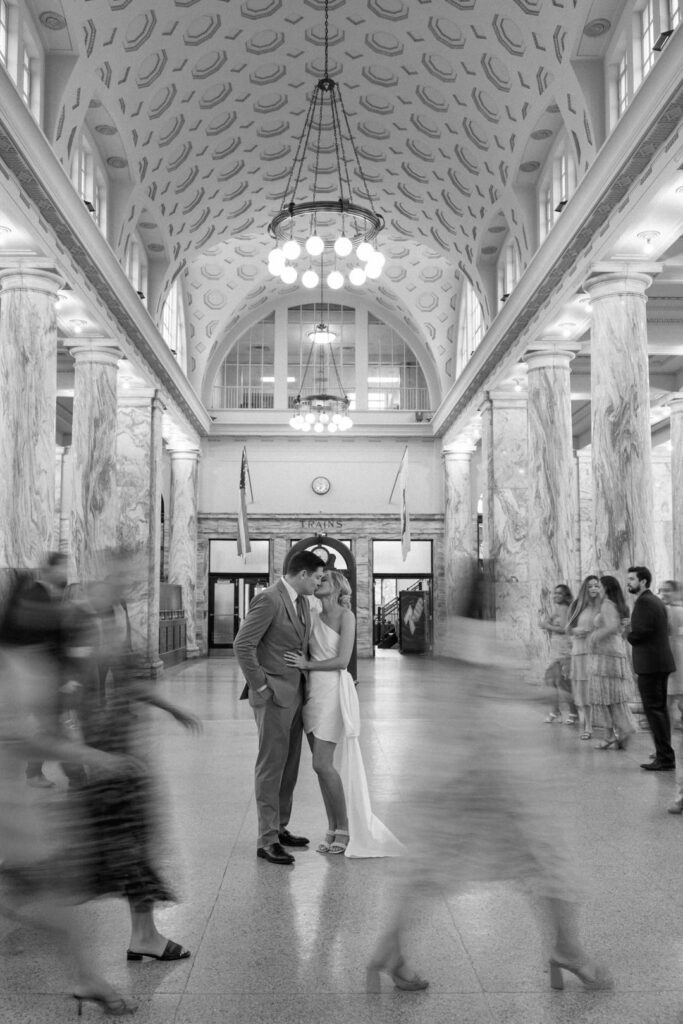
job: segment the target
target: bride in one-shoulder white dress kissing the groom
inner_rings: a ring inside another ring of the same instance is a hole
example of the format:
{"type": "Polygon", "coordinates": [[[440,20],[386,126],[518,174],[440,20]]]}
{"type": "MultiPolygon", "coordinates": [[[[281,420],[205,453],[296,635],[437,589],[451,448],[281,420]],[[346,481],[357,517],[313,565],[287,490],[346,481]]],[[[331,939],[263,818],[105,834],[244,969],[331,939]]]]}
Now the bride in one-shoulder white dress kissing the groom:
{"type": "Polygon", "coordinates": [[[347,857],[397,857],[404,848],[372,812],[360,756],[358,697],[346,671],[355,637],[350,594],[346,577],[328,569],[311,600],[310,656],[285,654],[288,665],[308,673],[303,726],[328,815],[328,830],[317,850],[347,857]]]}

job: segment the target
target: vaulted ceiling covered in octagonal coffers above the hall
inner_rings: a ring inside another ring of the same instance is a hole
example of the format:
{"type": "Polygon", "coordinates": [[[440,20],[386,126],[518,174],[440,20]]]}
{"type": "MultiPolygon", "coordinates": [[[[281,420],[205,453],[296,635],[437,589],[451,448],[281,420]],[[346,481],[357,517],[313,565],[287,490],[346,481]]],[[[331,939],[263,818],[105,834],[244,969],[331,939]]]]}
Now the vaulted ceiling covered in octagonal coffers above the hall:
{"type": "MultiPolygon", "coordinates": [[[[68,166],[86,123],[115,183],[113,244],[138,229],[190,301],[197,390],[226,332],[279,292],[267,224],[324,69],[322,0],[29,0],[50,54],[47,129],[68,166]]],[[[462,273],[488,316],[512,232],[537,246],[532,199],[557,130],[580,174],[604,137],[593,69],[618,0],[331,0],[330,74],[386,227],[364,291],[418,332],[453,381],[462,273]]]]}

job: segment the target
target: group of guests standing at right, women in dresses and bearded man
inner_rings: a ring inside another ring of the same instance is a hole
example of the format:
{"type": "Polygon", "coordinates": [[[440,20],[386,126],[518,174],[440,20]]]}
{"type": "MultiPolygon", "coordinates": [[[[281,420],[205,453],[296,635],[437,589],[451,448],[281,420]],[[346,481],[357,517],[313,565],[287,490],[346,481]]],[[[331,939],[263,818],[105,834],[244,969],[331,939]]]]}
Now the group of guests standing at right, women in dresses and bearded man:
{"type": "MultiPolygon", "coordinates": [[[[680,722],[683,684],[675,655],[683,645],[683,609],[675,581],[663,584],[661,598],[651,592],[651,582],[646,566],[629,568],[627,589],[635,597],[633,610],[613,575],[586,577],[575,599],[564,584],[555,588],[554,613],[541,622],[551,637],[547,681],[556,694],[546,721],[561,721],[564,702],[565,721],[579,723],[581,739],[591,739],[594,729],[600,729],[598,750],[624,750],[637,729],[630,705],[639,697],[655,749],[642,767],[672,771],[676,758],[670,710],[680,722]]],[[[680,656],[679,664],[683,668],[680,656]]]]}

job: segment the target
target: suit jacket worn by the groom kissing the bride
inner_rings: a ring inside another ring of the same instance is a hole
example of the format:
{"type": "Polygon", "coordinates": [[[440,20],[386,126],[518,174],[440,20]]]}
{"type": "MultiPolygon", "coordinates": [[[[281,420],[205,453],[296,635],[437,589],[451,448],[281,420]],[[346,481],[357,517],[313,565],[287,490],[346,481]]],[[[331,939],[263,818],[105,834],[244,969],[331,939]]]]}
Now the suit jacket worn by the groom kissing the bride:
{"type": "Polygon", "coordinates": [[[262,590],[251,602],[234,638],[234,654],[247,680],[242,698],[249,696],[252,707],[270,699],[267,694],[257,692],[266,685],[272,690],[273,703],[281,708],[291,707],[298,698],[301,670],[287,665],[285,653],[308,650],[308,601],[304,601],[304,609],[305,626],[282,580],[262,590]]]}

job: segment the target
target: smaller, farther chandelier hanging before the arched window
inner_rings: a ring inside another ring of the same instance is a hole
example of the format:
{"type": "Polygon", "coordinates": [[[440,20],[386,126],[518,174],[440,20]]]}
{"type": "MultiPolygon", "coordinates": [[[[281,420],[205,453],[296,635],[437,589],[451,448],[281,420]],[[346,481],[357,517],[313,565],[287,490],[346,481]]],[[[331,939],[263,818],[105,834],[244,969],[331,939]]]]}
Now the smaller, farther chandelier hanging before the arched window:
{"type": "MultiPolygon", "coordinates": [[[[321,282],[321,293],[323,283],[321,282]]],[[[321,294],[321,313],[323,297],[321,294]]],[[[316,310],[317,313],[317,310],[316,310]]],[[[315,434],[348,430],[353,421],[348,415],[349,398],[344,393],[337,360],[332,343],[336,334],[323,318],[308,332],[310,350],[304,367],[299,393],[294,400],[294,415],[290,426],[303,433],[312,431],[315,434]],[[334,371],[338,394],[328,392],[328,377],[330,370],[334,371]],[[311,380],[316,381],[315,394],[306,394],[306,380],[310,373],[311,380]]]]}

